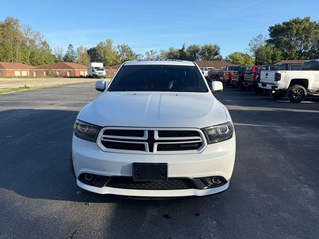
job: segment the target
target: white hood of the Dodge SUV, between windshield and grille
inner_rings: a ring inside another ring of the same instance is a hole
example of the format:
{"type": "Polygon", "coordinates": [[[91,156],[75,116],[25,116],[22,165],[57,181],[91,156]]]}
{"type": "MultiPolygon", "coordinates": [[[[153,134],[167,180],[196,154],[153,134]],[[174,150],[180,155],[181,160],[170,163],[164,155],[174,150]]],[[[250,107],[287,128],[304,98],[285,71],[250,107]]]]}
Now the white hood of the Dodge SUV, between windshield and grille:
{"type": "Polygon", "coordinates": [[[195,128],[227,121],[213,95],[189,92],[105,92],[79,119],[100,126],[195,128]]]}

